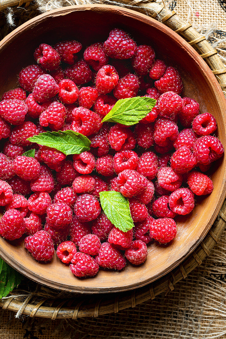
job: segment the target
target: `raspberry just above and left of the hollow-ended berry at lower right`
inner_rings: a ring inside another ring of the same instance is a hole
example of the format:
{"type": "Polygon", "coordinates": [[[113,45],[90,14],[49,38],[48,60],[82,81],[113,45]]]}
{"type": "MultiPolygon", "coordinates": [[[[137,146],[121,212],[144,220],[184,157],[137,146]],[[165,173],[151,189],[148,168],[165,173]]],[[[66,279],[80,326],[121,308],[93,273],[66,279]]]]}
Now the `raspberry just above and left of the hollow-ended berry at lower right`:
{"type": "Polygon", "coordinates": [[[158,183],[165,190],[173,192],[182,184],[182,175],[177,174],[171,167],[161,167],[157,174],[158,183]]]}

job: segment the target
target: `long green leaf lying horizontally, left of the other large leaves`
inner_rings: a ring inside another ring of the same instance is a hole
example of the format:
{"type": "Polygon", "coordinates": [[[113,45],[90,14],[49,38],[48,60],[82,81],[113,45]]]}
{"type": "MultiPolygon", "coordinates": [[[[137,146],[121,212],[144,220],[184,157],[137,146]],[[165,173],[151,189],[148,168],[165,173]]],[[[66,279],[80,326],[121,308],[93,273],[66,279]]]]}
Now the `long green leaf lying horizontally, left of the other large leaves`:
{"type": "Polygon", "coordinates": [[[91,144],[90,140],[83,134],[71,130],[44,132],[27,140],[36,142],[39,145],[55,148],[66,155],[80,154],[88,151],[91,144]]]}

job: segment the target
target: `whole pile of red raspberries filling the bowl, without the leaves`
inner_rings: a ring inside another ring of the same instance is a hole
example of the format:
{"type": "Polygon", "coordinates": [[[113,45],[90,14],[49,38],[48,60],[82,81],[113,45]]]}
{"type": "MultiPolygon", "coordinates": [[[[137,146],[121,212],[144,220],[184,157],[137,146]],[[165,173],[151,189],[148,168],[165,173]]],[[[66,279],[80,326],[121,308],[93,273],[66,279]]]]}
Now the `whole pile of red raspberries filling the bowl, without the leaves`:
{"type": "Polygon", "coordinates": [[[77,277],[122,270],[126,259],[144,263],[147,245],[172,241],[174,219],[213,190],[203,172],[224,152],[215,118],[182,97],[176,68],[118,28],[86,48],[75,40],[42,43],[34,58],[0,102],[0,235],[26,235],[27,251],[43,262],[56,248],[77,277]],[[137,125],[102,123],[118,100],[136,96],[157,100],[137,125]],[[66,157],[27,140],[68,129],[87,136],[90,150],[66,157]],[[23,155],[30,149],[34,158],[23,155]],[[128,198],[128,232],[101,210],[99,193],[110,190],[128,198]]]}

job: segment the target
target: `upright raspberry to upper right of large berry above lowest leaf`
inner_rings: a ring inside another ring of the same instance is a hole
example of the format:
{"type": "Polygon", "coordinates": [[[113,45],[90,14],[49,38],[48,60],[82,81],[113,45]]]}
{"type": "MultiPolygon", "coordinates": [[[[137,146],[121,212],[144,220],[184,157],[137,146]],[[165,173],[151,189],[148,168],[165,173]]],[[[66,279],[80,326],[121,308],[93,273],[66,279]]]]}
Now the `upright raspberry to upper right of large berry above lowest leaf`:
{"type": "Polygon", "coordinates": [[[137,172],[152,180],[158,172],[158,157],[153,152],[144,152],[137,166],[137,172]]]}

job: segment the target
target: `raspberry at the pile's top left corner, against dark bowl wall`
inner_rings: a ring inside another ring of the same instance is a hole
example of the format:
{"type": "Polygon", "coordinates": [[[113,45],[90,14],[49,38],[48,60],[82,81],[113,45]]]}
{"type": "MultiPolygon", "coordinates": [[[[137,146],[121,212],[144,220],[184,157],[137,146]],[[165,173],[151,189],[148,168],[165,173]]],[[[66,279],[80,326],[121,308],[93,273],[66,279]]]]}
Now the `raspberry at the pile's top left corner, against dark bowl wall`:
{"type": "Polygon", "coordinates": [[[49,71],[57,69],[60,65],[59,53],[57,53],[53,47],[45,43],[42,43],[35,49],[34,57],[35,61],[37,61],[40,66],[49,71]]]}

